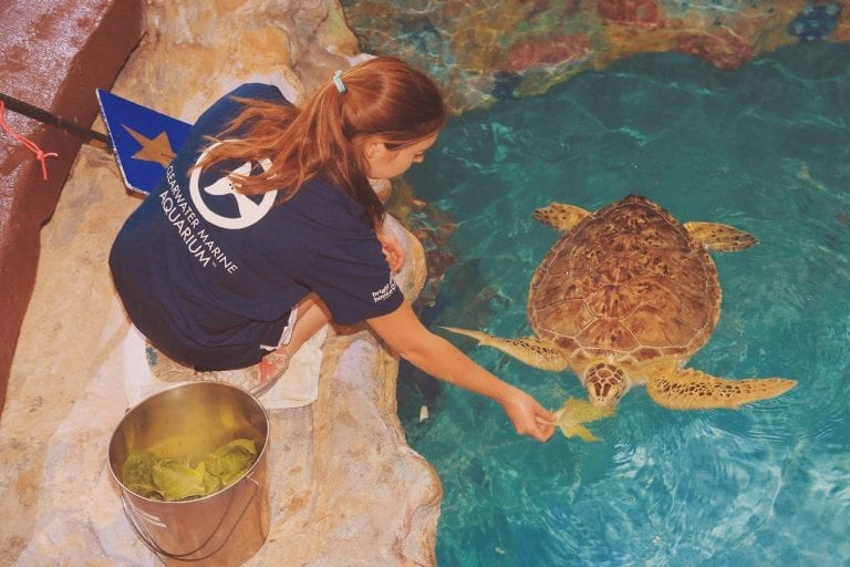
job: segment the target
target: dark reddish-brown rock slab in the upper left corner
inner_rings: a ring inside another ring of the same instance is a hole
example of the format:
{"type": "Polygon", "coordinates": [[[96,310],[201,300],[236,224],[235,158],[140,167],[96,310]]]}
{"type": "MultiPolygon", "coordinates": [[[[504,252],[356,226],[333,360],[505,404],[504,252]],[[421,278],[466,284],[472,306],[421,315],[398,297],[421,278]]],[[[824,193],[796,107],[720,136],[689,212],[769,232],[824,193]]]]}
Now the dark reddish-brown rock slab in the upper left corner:
{"type": "MultiPolygon", "coordinates": [[[[3,0],[0,91],[87,125],[94,90],[108,89],[142,37],[141,0],[3,0]]],[[[35,284],[39,231],[59,199],[82,138],[7,112],[18,134],[46,153],[48,178],[29,150],[0,132],[0,412],[21,322],[35,284]]]]}

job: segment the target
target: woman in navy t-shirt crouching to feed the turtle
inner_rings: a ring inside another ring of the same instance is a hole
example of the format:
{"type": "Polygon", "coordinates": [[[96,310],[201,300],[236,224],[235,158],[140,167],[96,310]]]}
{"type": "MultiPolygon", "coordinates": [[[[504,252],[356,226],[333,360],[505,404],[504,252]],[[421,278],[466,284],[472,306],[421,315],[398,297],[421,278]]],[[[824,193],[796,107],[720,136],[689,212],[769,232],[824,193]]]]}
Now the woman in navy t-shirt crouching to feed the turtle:
{"type": "Polygon", "coordinates": [[[268,85],[222,97],[113,245],[131,320],[180,364],[249,369],[252,390],[329,321],[365,321],[408,362],[546,441],[552,415],[429,332],[392,276],[403,251],[381,229],[370,178],[422,162],[446,117],[434,82],[393,58],[338,72],[301,109],[268,85]]]}

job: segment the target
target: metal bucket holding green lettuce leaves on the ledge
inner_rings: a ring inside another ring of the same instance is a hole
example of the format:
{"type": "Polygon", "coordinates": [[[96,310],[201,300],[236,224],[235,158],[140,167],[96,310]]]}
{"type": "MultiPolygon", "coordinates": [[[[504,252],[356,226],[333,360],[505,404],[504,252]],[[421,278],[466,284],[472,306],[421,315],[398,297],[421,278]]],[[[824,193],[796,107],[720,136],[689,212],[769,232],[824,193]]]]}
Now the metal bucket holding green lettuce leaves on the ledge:
{"type": "Polygon", "coordinates": [[[190,382],[158,392],[124,415],[110,440],[110,471],[131,525],[166,565],[235,566],[253,556],[269,534],[268,445],[268,416],[256,398],[224,382],[190,382]],[[123,483],[124,462],[134,449],[162,443],[175,454],[155,453],[158,457],[194,463],[235,439],[255,441],[257,460],[209,496],[160,502],[123,483]]]}

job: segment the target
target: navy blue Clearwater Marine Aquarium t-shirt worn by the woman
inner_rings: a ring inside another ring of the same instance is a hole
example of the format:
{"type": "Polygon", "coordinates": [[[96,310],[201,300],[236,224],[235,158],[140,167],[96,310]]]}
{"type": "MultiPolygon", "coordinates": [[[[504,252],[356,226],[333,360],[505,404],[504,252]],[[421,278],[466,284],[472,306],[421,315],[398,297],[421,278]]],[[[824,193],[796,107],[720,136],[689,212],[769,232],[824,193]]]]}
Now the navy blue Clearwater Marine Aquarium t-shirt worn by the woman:
{"type": "Polygon", "coordinates": [[[288,104],[274,86],[246,84],[210,106],[110,254],[133,323],[198,370],[258,362],[310,291],[343,324],[390,313],[404,299],[363,207],[339,187],[313,178],[276,205],[278,192],[242,195],[227,177],[261,172],[270,164],[262,156],[194,168],[205,136],[241,111],[230,96],[288,104]]]}

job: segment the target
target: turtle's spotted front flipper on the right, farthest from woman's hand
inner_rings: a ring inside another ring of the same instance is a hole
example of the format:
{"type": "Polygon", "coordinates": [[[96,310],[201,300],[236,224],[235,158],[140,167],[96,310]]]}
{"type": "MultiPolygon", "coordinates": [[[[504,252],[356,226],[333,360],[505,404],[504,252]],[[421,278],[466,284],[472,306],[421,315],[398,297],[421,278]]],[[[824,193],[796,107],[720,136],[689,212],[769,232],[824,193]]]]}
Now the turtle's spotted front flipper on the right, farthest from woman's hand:
{"type": "Polygon", "coordinates": [[[796,383],[784,378],[723,380],[684,369],[652,374],[646,392],[656,403],[672,410],[737,409],[787,392],[796,383]]]}

